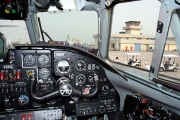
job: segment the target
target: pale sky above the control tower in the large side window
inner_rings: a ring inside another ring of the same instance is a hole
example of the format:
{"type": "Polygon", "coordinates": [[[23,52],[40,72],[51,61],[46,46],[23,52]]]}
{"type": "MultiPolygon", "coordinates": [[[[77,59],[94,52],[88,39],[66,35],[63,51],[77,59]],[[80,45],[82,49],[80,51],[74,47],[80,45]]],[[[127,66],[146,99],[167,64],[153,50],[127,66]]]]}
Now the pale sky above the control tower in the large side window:
{"type": "Polygon", "coordinates": [[[123,31],[127,21],[140,21],[140,26],[143,26],[141,30],[143,34],[155,35],[160,5],[158,0],[142,0],[116,5],[112,33],[123,31]]]}

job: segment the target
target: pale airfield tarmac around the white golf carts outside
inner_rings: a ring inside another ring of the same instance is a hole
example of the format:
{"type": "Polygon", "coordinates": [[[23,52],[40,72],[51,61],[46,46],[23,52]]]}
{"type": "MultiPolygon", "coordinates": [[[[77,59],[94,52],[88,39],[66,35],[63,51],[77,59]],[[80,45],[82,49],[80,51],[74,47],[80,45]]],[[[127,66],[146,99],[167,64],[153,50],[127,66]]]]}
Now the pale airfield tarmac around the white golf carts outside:
{"type": "MultiPolygon", "coordinates": [[[[141,55],[137,56],[137,60],[140,61],[141,60],[141,65],[140,68],[144,68],[145,69],[145,62],[148,62],[149,65],[151,65],[151,60],[152,60],[152,54],[153,52],[148,52],[148,51],[128,51],[128,52],[123,52],[123,51],[109,51],[109,58],[111,60],[114,60],[116,57],[119,57],[119,60],[121,63],[124,63],[124,55],[125,53],[139,53],[141,55]]],[[[178,55],[178,51],[166,51],[164,54],[173,54],[173,55],[178,55]]],[[[179,56],[179,55],[178,55],[179,56]]],[[[132,56],[129,56],[129,58],[132,58],[132,56]]],[[[172,61],[174,61],[174,58],[171,58],[172,61]]],[[[165,59],[166,61],[168,60],[168,58],[165,59]]],[[[162,59],[162,61],[164,61],[164,59],[162,59]]],[[[179,79],[180,78],[180,57],[175,58],[175,63],[179,64],[179,67],[177,71],[172,72],[172,71],[163,71],[160,72],[160,74],[162,75],[167,75],[169,77],[174,77],[179,79]]]]}

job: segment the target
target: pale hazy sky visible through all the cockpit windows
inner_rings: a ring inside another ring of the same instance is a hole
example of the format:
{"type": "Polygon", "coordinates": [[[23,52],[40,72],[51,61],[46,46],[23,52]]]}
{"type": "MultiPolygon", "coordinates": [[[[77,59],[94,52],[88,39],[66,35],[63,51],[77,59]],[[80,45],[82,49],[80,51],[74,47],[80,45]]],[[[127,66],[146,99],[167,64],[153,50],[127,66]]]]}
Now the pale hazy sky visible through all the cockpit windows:
{"type": "MultiPolygon", "coordinates": [[[[142,33],[155,35],[159,16],[160,2],[158,0],[143,0],[132,3],[118,4],[113,13],[112,33],[123,31],[125,22],[141,21],[142,33]]],[[[97,14],[95,12],[76,12],[39,14],[42,28],[52,39],[64,41],[80,39],[93,43],[93,35],[98,33],[97,14]],[[57,17],[58,15],[58,17],[57,17]]],[[[1,20],[0,25],[18,25],[19,27],[0,27],[8,42],[29,41],[24,21],[1,20]]],[[[45,37],[47,40],[47,37],[45,37]]]]}

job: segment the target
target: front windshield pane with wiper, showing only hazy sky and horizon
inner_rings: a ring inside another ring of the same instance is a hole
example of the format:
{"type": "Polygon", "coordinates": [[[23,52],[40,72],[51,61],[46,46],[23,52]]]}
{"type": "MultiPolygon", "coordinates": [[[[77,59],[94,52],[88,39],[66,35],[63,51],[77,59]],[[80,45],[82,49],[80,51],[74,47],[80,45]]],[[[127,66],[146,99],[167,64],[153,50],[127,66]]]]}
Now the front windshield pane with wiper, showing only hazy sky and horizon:
{"type": "MultiPolygon", "coordinates": [[[[69,44],[85,45],[95,48],[94,35],[98,33],[98,17],[93,11],[81,12],[41,12],[37,14],[40,18],[42,30],[45,34],[45,42],[64,41],[69,44]]],[[[41,35],[41,41],[43,41],[41,35]]]]}

